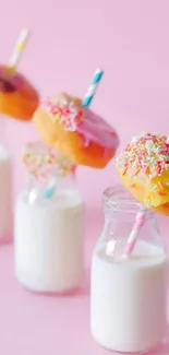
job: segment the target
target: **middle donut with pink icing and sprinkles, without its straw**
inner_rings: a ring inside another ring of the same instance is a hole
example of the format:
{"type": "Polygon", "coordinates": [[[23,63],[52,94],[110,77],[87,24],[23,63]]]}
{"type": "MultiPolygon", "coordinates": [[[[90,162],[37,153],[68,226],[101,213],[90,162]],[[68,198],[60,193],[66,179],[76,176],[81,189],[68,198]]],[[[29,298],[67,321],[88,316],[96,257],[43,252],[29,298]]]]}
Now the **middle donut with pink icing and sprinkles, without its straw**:
{"type": "Polygon", "coordinates": [[[68,94],[43,103],[33,121],[43,142],[75,164],[104,168],[119,145],[114,130],[68,94]]]}

